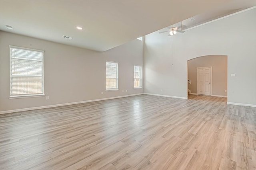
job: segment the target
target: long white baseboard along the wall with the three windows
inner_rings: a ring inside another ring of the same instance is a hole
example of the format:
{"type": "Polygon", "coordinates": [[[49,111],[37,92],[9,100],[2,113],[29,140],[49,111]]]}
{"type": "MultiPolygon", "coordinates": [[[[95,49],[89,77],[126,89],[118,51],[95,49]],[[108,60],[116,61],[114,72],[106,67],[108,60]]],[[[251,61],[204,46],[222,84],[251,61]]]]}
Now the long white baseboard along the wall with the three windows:
{"type": "Polygon", "coordinates": [[[24,108],[24,109],[6,110],[6,111],[0,111],[0,114],[14,113],[14,112],[18,112],[18,111],[35,110],[35,109],[45,109],[45,108],[50,108],[50,107],[67,106],[67,105],[72,105],[72,104],[81,104],[81,103],[88,103],[88,102],[97,102],[97,101],[102,101],[102,100],[110,100],[110,99],[117,99],[117,98],[125,98],[125,97],[129,97],[129,96],[137,96],[137,95],[141,95],[141,94],[143,94],[143,93],[130,94],[130,95],[125,95],[125,96],[116,96],[116,97],[112,97],[112,98],[86,100],[86,101],[81,101],[81,102],[72,102],[72,103],[54,104],[54,105],[48,105],[48,106],[29,107],[29,108],[24,108]]]}

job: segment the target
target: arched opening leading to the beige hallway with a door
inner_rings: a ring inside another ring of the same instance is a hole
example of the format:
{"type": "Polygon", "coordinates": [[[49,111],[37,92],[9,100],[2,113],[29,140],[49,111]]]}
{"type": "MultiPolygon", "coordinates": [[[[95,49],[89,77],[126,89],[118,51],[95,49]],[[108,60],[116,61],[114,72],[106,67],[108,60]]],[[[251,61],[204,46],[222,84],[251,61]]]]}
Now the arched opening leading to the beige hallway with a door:
{"type": "Polygon", "coordinates": [[[188,96],[228,96],[228,56],[207,55],[187,61],[188,96]]]}

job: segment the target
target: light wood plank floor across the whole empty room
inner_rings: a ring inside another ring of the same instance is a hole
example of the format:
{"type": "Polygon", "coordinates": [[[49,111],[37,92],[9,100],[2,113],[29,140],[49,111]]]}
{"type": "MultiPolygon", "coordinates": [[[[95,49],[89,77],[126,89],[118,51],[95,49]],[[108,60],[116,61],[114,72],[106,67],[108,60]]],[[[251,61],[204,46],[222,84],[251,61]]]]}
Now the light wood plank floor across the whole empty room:
{"type": "Polygon", "coordinates": [[[140,95],[0,115],[1,170],[256,170],[256,108],[140,95]]]}

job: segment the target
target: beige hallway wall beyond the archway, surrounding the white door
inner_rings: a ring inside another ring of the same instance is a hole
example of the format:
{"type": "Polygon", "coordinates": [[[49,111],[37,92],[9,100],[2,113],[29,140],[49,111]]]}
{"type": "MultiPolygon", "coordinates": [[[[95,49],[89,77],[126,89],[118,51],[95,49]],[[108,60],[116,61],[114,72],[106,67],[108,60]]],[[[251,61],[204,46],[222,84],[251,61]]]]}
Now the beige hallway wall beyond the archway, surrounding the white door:
{"type": "Polygon", "coordinates": [[[228,88],[228,56],[207,55],[187,61],[188,66],[188,89],[191,94],[197,94],[197,68],[212,67],[212,93],[214,96],[227,96],[228,88]]]}

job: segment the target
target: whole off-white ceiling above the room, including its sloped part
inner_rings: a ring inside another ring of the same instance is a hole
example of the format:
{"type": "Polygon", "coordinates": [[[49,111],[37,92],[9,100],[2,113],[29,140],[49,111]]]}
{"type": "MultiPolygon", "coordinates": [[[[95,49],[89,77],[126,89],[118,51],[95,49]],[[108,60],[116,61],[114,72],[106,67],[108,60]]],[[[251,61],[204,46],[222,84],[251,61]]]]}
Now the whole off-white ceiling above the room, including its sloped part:
{"type": "Polygon", "coordinates": [[[219,9],[223,15],[256,5],[252,2],[255,1],[1,0],[0,29],[106,51],[193,16],[209,14],[211,18],[215,14],[216,17],[214,10],[219,9]],[[6,25],[12,26],[13,30],[7,29],[6,25]],[[76,29],[76,26],[83,27],[83,30],[76,29]],[[62,35],[73,39],[64,39],[62,35]]]}

